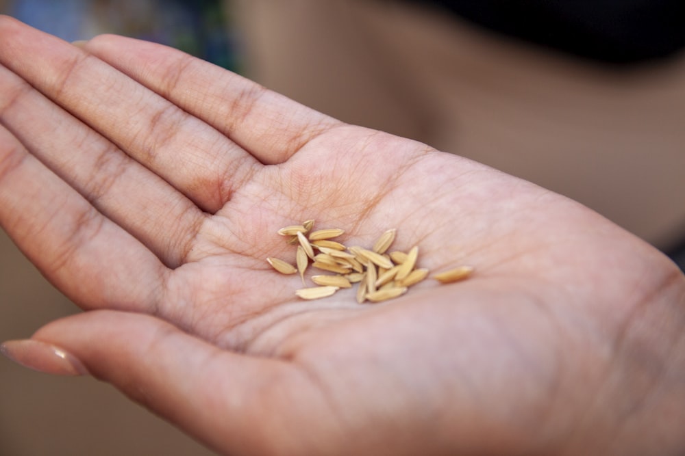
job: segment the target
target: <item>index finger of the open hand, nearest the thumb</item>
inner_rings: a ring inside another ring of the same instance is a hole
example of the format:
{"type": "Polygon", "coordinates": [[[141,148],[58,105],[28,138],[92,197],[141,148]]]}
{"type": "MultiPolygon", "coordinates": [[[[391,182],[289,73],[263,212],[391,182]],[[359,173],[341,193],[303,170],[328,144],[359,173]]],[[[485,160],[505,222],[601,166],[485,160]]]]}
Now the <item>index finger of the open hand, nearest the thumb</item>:
{"type": "Polygon", "coordinates": [[[30,155],[3,126],[0,226],[82,308],[155,310],[155,285],[166,271],[158,258],[30,155]]]}

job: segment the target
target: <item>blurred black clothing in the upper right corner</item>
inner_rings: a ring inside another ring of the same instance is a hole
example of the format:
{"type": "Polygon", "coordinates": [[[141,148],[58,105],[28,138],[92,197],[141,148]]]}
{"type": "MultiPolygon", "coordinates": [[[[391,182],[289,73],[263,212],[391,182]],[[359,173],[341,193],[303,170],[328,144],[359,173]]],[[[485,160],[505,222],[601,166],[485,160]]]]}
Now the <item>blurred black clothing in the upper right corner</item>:
{"type": "Polygon", "coordinates": [[[488,29],[614,64],[685,46],[685,0],[406,0],[488,29]]]}

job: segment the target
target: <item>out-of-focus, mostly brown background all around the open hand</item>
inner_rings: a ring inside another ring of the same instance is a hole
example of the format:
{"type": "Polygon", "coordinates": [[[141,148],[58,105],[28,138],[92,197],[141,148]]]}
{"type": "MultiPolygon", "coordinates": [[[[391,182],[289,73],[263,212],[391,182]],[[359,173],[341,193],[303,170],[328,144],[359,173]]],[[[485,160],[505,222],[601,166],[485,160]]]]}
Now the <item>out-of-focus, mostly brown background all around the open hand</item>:
{"type": "MultiPolygon", "coordinates": [[[[667,10],[602,11],[599,4],[621,3],[608,0],[588,3],[596,10],[571,14],[564,26],[554,21],[569,15],[535,19],[497,1],[453,10],[456,3],[0,0],[0,12],[65,40],[119,33],[174,46],[336,118],[558,191],[683,267],[682,22],[664,26],[667,10]],[[619,33],[611,14],[640,21],[619,33]],[[512,29],[520,16],[538,22],[512,29]],[[546,41],[554,29],[565,31],[546,41]]],[[[651,5],[667,3],[678,4],[651,5]]],[[[78,311],[0,232],[0,339],[78,311]]],[[[0,455],[75,454],[212,453],[106,384],[0,358],[0,455]]]]}

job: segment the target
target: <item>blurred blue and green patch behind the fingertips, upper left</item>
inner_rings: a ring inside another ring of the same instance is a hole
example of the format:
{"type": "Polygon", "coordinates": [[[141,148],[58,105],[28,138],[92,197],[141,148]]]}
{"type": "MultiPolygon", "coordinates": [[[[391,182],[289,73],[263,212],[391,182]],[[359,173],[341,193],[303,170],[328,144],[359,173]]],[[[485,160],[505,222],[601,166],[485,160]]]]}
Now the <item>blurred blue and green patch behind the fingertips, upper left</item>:
{"type": "Polygon", "coordinates": [[[237,70],[232,31],[221,0],[10,0],[5,14],[67,41],[100,33],[173,46],[237,70]]]}

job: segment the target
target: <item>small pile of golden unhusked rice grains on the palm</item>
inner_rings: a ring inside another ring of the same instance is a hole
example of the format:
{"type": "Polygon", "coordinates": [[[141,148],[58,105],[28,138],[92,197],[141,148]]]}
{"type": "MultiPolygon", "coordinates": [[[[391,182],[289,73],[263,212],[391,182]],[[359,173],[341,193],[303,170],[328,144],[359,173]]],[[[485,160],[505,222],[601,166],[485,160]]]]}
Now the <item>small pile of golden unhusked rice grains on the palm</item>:
{"type": "MultiPolygon", "coordinates": [[[[397,230],[387,230],[375,242],[371,250],[359,246],[347,247],[333,239],[344,234],[340,228],[315,230],[314,220],[301,225],[290,225],[278,230],[288,238],[288,243],[297,244],[296,266],[279,258],[266,258],[269,264],[282,274],[299,273],[305,285],[304,274],[308,267],[325,272],[312,276],[316,286],[295,291],[301,299],[319,299],[348,289],[358,284],[357,302],[362,304],[385,301],[407,292],[410,286],[427,278],[428,269],[417,268],[419,247],[409,252],[388,252],[395,241],[397,230]]],[[[433,276],[441,283],[451,283],[467,278],[473,267],[461,266],[433,276]]]]}

